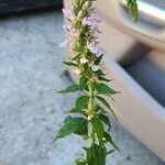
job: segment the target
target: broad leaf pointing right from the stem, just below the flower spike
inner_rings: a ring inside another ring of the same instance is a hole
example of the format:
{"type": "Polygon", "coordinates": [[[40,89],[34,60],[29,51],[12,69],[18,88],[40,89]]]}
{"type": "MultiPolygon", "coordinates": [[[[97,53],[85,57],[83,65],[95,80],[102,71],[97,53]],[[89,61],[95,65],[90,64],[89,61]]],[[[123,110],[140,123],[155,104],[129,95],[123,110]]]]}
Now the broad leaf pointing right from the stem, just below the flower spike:
{"type": "Polygon", "coordinates": [[[116,94],[119,94],[118,91],[114,91],[112,88],[108,87],[106,84],[102,84],[102,82],[95,82],[94,88],[100,95],[116,95],[116,94]]]}

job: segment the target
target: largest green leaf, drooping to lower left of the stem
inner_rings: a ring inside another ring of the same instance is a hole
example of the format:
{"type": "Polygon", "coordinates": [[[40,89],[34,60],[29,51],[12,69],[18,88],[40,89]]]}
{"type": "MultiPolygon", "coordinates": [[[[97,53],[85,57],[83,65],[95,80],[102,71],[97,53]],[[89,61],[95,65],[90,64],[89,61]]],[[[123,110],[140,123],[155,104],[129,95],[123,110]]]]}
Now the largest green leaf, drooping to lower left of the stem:
{"type": "Polygon", "coordinates": [[[72,118],[67,117],[64,124],[57,132],[54,142],[58,139],[65,138],[72,133],[84,135],[88,134],[87,120],[84,118],[72,118]]]}

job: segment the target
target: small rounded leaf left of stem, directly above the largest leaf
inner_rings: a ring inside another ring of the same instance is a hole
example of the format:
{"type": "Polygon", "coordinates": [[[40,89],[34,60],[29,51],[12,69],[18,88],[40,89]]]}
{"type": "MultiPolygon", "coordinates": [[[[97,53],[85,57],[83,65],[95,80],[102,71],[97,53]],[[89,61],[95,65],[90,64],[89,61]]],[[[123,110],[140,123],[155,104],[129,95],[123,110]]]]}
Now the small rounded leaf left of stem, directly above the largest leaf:
{"type": "Polygon", "coordinates": [[[87,103],[89,101],[89,97],[88,96],[81,96],[76,100],[76,108],[77,109],[84,109],[87,103]]]}

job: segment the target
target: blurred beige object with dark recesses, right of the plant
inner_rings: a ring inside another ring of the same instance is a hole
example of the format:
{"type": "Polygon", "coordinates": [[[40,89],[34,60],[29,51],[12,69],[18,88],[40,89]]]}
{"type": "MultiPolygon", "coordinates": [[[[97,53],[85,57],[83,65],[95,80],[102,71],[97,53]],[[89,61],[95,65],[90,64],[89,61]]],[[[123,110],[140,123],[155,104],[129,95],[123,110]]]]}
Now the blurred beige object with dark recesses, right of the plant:
{"type": "Polygon", "coordinates": [[[165,1],[138,2],[140,21],[133,23],[125,0],[97,1],[105,63],[122,91],[109,101],[119,122],[165,161],[165,1]]]}

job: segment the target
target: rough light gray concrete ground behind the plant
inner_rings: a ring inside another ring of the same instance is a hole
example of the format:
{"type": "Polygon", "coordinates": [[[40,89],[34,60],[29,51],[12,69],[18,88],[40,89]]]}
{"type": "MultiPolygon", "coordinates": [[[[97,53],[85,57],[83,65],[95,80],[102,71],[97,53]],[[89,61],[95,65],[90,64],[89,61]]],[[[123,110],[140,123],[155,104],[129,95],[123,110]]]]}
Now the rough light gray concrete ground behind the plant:
{"type": "MultiPolygon", "coordinates": [[[[55,95],[69,82],[58,44],[59,10],[0,19],[0,165],[70,165],[81,156],[73,135],[50,145],[76,96],[55,95]]],[[[113,121],[121,148],[108,165],[163,165],[113,121]]]]}

